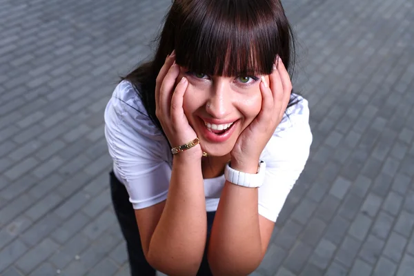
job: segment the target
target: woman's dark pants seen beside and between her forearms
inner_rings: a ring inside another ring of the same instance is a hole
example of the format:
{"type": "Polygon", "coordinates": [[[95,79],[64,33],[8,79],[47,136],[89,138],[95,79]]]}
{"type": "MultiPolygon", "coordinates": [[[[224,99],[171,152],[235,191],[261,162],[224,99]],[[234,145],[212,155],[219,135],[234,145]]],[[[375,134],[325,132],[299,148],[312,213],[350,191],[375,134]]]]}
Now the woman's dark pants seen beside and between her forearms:
{"type": "MultiPolygon", "coordinates": [[[[126,239],[131,275],[154,276],[155,269],[148,264],[144,256],[144,251],[142,250],[135,212],[129,201],[128,192],[126,191],[124,184],[117,179],[113,172],[110,172],[110,190],[115,214],[117,215],[119,225],[121,226],[122,234],[126,239]]],[[[207,241],[210,237],[214,216],[215,212],[207,213],[207,241]]],[[[203,260],[197,276],[212,275],[207,262],[207,250],[204,250],[203,260]]]]}

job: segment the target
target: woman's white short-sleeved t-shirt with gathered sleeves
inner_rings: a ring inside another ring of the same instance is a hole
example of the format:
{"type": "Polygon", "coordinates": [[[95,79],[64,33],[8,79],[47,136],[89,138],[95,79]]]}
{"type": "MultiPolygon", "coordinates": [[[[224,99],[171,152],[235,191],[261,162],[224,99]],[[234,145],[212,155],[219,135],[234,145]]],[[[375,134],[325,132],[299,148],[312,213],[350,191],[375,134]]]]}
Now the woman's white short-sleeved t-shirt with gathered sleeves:
{"type": "MultiPolygon", "coordinates": [[[[306,99],[286,110],[282,122],[264,148],[266,177],[259,188],[259,214],[276,221],[293,184],[301,174],[312,143],[306,99]]],[[[115,175],[128,190],[135,209],[167,198],[172,168],[170,146],[148,117],[141,99],[128,81],[115,88],[105,110],[105,136],[115,175]]],[[[224,175],[204,179],[206,211],[215,211],[224,187],[224,175]]]]}

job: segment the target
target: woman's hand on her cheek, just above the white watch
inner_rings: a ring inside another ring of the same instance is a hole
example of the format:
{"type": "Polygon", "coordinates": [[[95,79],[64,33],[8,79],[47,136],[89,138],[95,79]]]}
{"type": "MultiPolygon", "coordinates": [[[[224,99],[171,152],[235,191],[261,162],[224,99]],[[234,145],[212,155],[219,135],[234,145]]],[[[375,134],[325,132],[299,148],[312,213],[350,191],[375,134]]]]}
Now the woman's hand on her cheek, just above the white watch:
{"type": "Polygon", "coordinates": [[[260,82],[262,109],[250,125],[243,130],[230,152],[231,167],[242,172],[256,173],[260,155],[282,121],[292,92],[289,74],[279,57],[269,76],[260,82]]]}

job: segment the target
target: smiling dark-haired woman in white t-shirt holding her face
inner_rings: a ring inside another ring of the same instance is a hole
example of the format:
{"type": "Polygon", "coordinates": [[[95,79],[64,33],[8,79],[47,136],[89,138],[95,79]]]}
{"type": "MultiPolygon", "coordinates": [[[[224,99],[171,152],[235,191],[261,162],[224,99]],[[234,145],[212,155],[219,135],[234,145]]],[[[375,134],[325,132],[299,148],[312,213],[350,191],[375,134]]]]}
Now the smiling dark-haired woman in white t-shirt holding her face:
{"type": "Polygon", "coordinates": [[[105,111],[132,275],[248,275],[262,262],[312,141],[292,55],[279,0],[172,3],[155,58],[105,111]]]}

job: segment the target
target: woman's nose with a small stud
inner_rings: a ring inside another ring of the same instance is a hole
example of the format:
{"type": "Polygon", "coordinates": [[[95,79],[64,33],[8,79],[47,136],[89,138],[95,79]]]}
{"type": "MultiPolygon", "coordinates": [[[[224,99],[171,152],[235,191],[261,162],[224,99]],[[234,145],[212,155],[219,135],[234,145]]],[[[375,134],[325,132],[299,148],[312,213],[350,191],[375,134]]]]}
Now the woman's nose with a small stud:
{"type": "Polygon", "coordinates": [[[211,87],[207,112],[216,119],[226,119],[231,112],[230,88],[225,81],[218,81],[211,87]]]}

